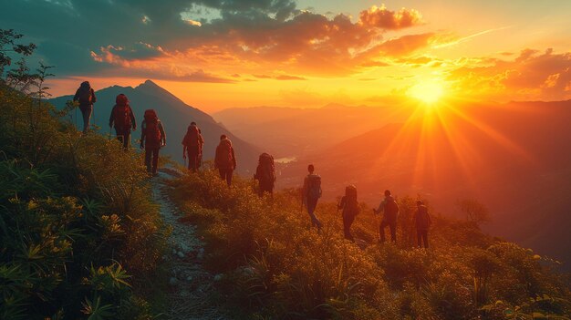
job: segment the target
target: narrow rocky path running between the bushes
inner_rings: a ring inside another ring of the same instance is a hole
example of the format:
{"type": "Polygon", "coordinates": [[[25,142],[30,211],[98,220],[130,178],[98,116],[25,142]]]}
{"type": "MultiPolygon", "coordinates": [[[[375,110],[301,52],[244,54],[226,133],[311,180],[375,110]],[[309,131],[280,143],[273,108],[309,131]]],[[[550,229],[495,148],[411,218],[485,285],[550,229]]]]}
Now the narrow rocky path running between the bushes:
{"type": "Polygon", "coordinates": [[[196,235],[196,227],[179,221],[182,212],[169,198],[169,187],[164,183],[180,172],[161,170],[158,177],[152,179],[154,200],[161,204],[164,222],[171,225],[171,249],[165,257],[171,268],[170,302],[168,319],[229,319],[223,308],[216,305],[213,296],[215,276],[202,268],[204,257],[203,243],[196,235]]]}

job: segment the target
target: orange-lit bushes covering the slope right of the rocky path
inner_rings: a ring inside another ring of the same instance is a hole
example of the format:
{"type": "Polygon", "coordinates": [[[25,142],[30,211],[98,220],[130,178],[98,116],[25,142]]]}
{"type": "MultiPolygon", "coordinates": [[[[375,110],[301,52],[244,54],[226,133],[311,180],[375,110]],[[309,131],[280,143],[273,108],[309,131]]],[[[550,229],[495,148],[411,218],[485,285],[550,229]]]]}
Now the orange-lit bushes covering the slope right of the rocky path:
{"type": "Polygon", "coordinates": [[[399,200],[399,242],[377,243],[379,218],[361,205],[356,243],[343,239],[334,203],[320,202],[321,232],[300,212],[298,191],[259,198],[251,181],[228,188],[213,170],[171,182],[172,198],[207,243],[207,267],[223,274],[236,314],[272,319],[504,319],[537,294],[536,313],[568,315],[568,283],[544,259],[483,234],[472,222],[433,215],[431,249],[415,248],[415,200],[399,200]],[[369,213],[368,213],[369,212],[369,213]]]}

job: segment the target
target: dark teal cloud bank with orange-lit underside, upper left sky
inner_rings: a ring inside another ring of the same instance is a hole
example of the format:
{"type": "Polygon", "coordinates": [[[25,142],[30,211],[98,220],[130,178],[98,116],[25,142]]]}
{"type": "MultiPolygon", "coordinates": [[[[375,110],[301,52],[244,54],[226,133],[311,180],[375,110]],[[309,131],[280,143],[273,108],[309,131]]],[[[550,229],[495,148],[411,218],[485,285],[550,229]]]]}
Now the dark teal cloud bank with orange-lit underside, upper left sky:
{"type": "Polygon", "coordinates": [[[348,15],[298,10],[294,0],[3,1],[0,10],[0,27],[16,28],[35,41],[58,76],[115,70],[121,77],[145,72],[157,77],[173,65],[177,75],[200,75],[201,69],[224,64],[347,75],[379,64],[379,55],[406,55],[426,46],[426,35],[377,46],[386,30],[420,23],[415,10],[384,6],[362,11],[353,23],[348,15]],[[207,11],[216,17],[198,16],[207,11]],[[160,66],[145,66],[145,61],[160,66]]]}

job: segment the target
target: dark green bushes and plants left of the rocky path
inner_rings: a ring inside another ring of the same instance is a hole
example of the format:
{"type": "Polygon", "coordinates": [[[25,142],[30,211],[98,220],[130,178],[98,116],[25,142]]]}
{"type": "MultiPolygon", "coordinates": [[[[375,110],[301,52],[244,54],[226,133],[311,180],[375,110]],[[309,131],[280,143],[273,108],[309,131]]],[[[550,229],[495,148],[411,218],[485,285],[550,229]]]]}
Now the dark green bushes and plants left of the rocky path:
{"type": "MultiPolygon", "coordinates": [[[[31,54],[19,37],[0,30],[2,67],[31,54]]],[[[42,100],[49,67],[18,66],[0,81],[0,318],[150,318],[168,234],[140,155],[81,136],[42,100]]]]}

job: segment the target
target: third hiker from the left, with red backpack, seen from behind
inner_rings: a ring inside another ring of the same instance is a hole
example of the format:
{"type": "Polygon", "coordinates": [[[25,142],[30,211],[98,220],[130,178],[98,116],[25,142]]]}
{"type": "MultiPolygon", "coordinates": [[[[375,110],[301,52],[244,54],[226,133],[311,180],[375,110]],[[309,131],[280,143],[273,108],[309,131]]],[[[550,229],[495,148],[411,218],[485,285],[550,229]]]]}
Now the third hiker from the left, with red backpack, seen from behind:
{"type": "Polygon", "coordinates": [[[140,149],[145,150],[145,165],[150,175],[157,175],[159,150],[166,145],[167,136],[161,120],[157,117],[157,112],[151,108],[145,110],[144,119],[140,124],[140,149]]]}

